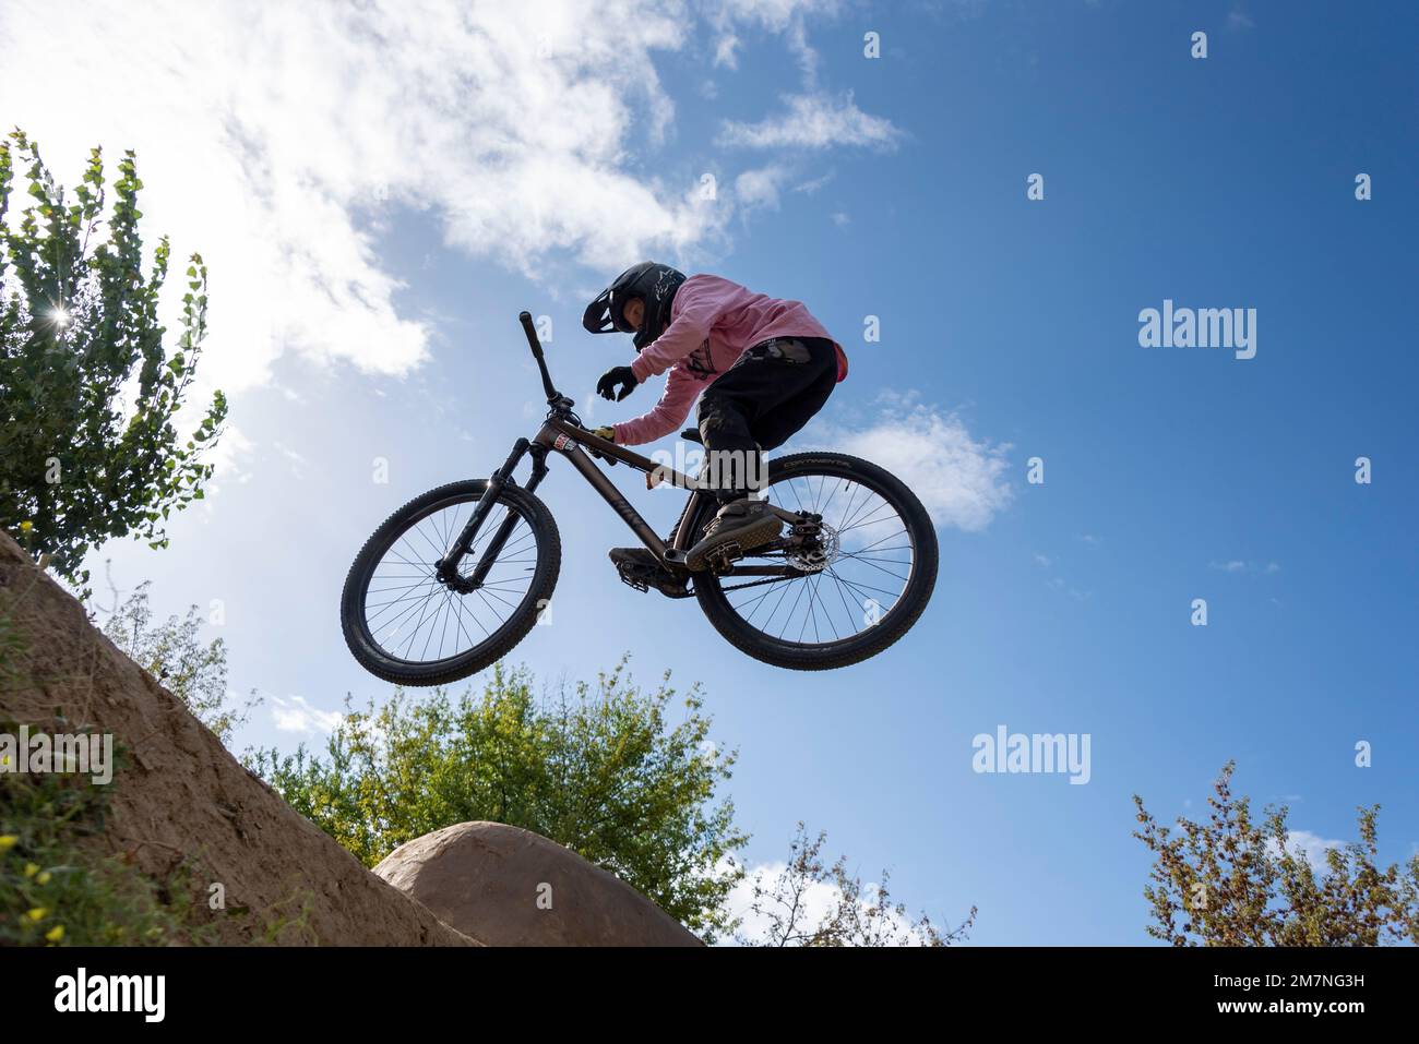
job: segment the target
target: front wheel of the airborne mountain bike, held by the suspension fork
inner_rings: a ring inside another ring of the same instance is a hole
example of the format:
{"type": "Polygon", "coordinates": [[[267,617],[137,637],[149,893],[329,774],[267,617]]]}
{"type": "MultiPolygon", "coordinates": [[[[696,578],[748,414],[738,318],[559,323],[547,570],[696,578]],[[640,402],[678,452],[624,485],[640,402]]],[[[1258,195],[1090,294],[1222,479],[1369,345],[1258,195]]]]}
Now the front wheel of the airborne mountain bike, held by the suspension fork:
{"type": "Polygon", "coordinates": [[[482,584],[450,590],[434,576],[487,492],[485,479],[450,482],[402,506],[365,542],[341,596],[341,628],[359,664],[399,685],[446,685],[491,667],[526,637],[549,604],[562,563],[556,521],[536,496],[504,485],[471,550],[467,577],[502,519],[512,531],[482,584]]]}

